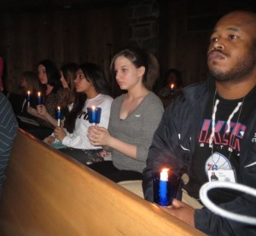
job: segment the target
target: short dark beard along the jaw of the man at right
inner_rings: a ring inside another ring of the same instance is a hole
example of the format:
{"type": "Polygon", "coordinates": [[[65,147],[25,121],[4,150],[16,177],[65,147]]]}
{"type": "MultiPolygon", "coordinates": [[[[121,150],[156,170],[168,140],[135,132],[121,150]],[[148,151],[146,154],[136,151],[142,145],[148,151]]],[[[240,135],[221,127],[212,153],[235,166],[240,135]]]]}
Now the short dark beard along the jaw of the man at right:
{"type": "Polygon", "coordinates": [[[238,58],[236,65],[231,68],[230,71],[222,72],[218,69],[209,68],[210,74],[214,80],[218,82],[236,82],[241,81],[250,74],[256,63],[254,56],[255,47],[252,48],[252,50],[247,51],[246,55],[238,58]]]}

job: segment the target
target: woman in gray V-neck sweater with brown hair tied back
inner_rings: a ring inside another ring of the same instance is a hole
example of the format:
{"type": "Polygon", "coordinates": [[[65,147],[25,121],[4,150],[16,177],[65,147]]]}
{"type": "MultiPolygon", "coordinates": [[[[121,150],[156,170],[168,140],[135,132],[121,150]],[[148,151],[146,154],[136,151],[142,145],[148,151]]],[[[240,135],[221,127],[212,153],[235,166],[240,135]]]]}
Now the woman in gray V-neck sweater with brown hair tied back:
{"type": "Polygon", "coordinates": [[[113,101],[108,130],[90,126],[90,143],[112,153],[112,161],[90,168],[116,182],[142,180],[148,148],[164,112],[151,91],[159,64],[143,49],[126,48],[113,57],[110,69],[120,89],[127,92],[113,101]]]}

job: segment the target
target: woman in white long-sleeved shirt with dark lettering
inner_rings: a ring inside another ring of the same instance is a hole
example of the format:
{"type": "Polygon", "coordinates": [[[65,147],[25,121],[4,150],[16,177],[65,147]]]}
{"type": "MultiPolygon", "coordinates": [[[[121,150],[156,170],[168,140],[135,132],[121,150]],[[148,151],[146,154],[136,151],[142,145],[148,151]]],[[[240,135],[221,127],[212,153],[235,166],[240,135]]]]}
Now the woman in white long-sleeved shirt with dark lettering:
{"type": "MultiPolygon", "coordinates": [[[[87,130],[90,127],[87,107],[101,107],[102,116],[100,124],[108,128],[110,106],[113,101],[109,96],[108,84],[102,69],[93,63],[85,63],[79,66],[76,73],[75,87],[78,96],[73,103],[71,111],[65,120],[65,128],[56,127],[54,137],[66,146],[60,150],[63,153],[79,160],[83,164],[90,164],[102,158],[99,152],[102,147],[90,144],[87,138],[87,130]]],[[[48,142],[53,141],[49,138],[48,142]]]]}

